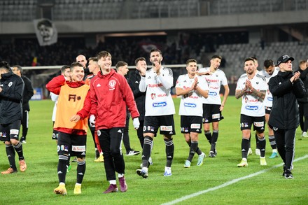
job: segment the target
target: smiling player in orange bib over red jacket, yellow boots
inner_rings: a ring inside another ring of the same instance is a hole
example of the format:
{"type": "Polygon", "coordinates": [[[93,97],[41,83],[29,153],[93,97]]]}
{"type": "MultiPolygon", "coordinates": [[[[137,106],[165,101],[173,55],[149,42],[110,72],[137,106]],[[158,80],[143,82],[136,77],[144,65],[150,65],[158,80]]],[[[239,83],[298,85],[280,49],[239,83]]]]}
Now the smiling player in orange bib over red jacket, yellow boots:
{"type": "Polygon", "coordinates": [[[59,95],[54,125],[54,129],[59,132],[57,141],[59,186],[55,188],[54,192],[59,195],[66,195],[66,164],[68,164],[69,155],[76,156],[78,163],[74,194],[81,194],[81,183],[85,175],[87,115],[90,111],[91,103],[90,86],[85,85],[83,82],[84,76],[83,66],[75,62],[71,64],[71,79],[61,75],[52,78],[46,85],[50,92],[59,95]],[[78,119],[76,118],[76,113],[78,119]],[[71,117],[72,115],[75,117],[71,117]]]}

